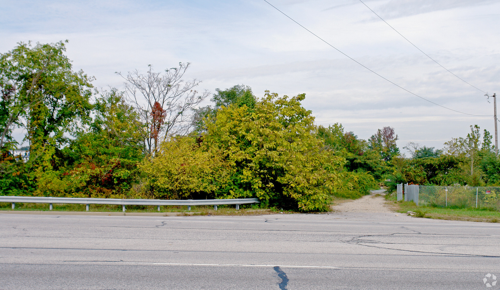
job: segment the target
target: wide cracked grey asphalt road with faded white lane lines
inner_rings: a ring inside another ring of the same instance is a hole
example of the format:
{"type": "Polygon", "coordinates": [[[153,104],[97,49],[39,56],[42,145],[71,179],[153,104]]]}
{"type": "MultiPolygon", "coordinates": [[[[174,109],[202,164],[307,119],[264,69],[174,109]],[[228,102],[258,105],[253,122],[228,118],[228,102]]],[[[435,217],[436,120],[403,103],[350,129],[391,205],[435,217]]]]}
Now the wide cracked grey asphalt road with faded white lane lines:
{"type": "Polygon", "coordinates": [[[0,289],[486,289],[499,242],[498,224],[395,214],[2,214],[0,289]]]}

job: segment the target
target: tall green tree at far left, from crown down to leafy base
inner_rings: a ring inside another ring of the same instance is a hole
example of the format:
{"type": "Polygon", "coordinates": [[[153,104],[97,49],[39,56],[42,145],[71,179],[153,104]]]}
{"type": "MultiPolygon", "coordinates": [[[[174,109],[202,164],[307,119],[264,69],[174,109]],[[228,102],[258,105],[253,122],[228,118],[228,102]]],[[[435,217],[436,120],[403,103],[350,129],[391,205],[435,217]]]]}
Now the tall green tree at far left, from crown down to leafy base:
{"type": "MultiPolygon", "coordinates": [[[[72,71],[64,52],[62,41],[36,45],[19,42],[0,57],[0,139],[13,144],[9,136],[12,126],[24,127],[30,160],[23,166],[26,172],[19,175],[29,173],[29,179],[41,188],[43,184],[59,188],[58,181],[50,180],[61,165],[60,148],[67,144],[68,135],[88,120],[91,109],[92,78],[82,71],[72,71]]],[[[4,150],[12,147],[4,144],[4,150]]]]}

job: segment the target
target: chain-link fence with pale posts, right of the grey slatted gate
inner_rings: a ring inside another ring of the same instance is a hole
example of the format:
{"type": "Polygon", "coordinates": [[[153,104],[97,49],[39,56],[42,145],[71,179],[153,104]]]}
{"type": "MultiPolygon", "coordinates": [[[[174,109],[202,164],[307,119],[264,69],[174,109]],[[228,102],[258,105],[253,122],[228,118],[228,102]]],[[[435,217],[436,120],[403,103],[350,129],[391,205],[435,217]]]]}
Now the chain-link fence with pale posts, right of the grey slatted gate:
{"type": "Polygon", "coordinates": [[[418,186],[420,205],[458,208],[488,208],[500,211],[497,186],[418,186]]]}

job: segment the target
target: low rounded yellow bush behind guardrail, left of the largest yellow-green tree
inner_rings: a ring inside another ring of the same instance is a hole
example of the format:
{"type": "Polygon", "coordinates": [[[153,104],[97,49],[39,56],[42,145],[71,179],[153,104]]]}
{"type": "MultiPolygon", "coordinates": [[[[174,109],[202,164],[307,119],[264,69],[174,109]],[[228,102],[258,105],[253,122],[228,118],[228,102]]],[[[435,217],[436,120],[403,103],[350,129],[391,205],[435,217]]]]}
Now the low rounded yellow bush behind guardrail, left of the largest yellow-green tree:
{"type": "Polygon", "coordinates": [[[155,199],[214,199],[227,187],[234,167],[201,138],[177,136],[139,165],[146,196],[155,199]]]}

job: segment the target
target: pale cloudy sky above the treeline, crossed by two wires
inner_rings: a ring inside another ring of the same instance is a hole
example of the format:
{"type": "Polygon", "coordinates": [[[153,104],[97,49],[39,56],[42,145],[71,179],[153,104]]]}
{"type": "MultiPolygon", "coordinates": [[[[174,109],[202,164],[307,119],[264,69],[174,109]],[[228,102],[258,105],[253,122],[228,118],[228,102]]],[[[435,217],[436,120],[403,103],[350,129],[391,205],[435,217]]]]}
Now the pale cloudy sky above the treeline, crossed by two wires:
{"type": "MultiPolygon", "coordinates": [[[[423,98],[492,115],[500,94],[500,0],[268,0],[381,76],[423,98]],[[491,100],[491,98],[490,98],[491,100]]],[[[121,88],[115,71],[156,71],[190,62],[200,90],[249,85],[306,93],[316,123],[340,122],[366,139],[391,126],[407,142],[442,148],[469,125],[494,132],[492,116],[456,113],[387,82],[298,26],[264,0],[0,0],[0,52],[18,41],[68,39],[74,69],[97,88],[121,88]]],[[[500,105],[500,104],[499,104],[500,105]]],[[[402,150],[405,152],[405,150],[402,150]]]]}

